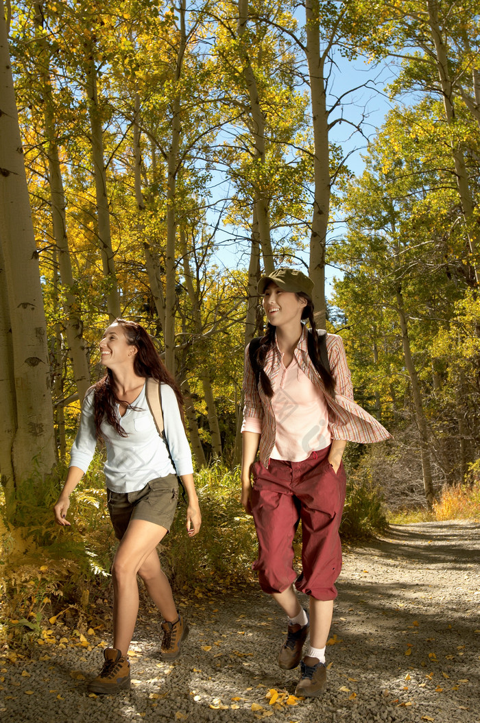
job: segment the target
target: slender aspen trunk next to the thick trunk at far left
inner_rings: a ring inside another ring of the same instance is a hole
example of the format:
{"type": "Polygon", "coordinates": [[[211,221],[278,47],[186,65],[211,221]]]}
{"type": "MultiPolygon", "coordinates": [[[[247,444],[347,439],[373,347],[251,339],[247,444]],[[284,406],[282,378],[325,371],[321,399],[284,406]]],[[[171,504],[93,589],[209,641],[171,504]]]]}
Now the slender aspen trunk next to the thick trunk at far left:
{"type": "MultiPolygon", "coordinates": [[[[40,3],[35,4],[35,25],[43,27],[43,12],[40,3]]],[[[65,208],[64,184],[61,177],[59,147],[53,119],[53,98],[50,79],[50,49],[45,36],[41,36],[40,67],[43,85],[43,116],[45,119],[46,151],[48,159],[48,184],[50,187],[51,217],[53,238],[59,252],[59,269],[64,291],[65,330],[72,357],[72,367],[80,400],[90,386],[90,369],[88,367],[87,344],[83,338],[83,323],[80,317],[79,300],[74,293],[72,261],[70,259],[67,238],[67,218],[65,208]]]]}

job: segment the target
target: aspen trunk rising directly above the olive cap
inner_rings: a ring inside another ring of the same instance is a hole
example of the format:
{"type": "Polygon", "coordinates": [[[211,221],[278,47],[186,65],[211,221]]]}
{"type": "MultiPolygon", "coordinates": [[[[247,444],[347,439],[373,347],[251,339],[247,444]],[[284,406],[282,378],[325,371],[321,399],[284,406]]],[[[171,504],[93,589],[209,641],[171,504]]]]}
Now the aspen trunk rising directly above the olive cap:
{"type": "MultiPolygon", "coordinates": [[[[257,80],[253,72],[248,54],[248,44],[245,38],[247,33],[248,0],[239,0],[239,22],[237,32],[239,35],[239,51],[244,64],[244,78],[247,81],[250,99],[250,111],[253,125],[253,137],[255,148],[255,160],[258,163],[265,163],[265,116],[260,107],[260,96],[258,93],[257,80]]],[[[270,235],[270,216],[268,213],[268,200],[260,189],[254,191],[254,210],[257,214],[258,234],[260,247],[262,248],[263,265],[265,273],[270,274],[274,270],[272,241],[270,235]]]]}

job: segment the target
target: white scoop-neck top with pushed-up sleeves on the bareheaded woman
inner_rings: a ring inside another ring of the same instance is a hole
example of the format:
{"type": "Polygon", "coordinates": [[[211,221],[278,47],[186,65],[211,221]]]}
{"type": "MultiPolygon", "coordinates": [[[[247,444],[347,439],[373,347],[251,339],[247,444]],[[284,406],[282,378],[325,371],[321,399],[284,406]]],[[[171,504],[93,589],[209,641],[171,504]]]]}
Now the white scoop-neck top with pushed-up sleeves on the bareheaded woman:
{"type": "MultiPolygon", "coordinates": [[[[168,384],[162,384],[160,394],[165,435],[176,469],[173,469],[168,457],[165,442],[158,435],[148,408],[144,385],[124,416],[120,416],[117,405],[119,422],[127,432],[127,437],[121,437],[106,419],[101,424],[107,452],[103,471],[106,485],[112,492],[136,492],[156,477],[175,472],[180,476],[193,472],[192,453],[181,422],[175,393],[168,384]]],[[[92,389],[87,392],[82,404],[80,427],[70,453],[70,466],[79,467],[86,472],[95,453],[96,443],[92,389]]]]}

